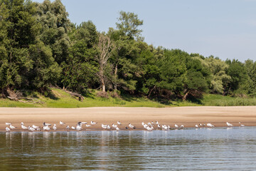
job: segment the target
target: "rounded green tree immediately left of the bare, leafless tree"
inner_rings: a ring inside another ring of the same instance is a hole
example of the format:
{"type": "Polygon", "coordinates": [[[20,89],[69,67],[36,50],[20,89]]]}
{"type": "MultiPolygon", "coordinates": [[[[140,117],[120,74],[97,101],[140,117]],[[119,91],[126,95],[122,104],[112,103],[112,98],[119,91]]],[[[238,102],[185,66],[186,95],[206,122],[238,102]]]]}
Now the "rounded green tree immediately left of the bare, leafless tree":
{"type": "Polygon", "coordinates": [[[78,93],[86,93],[89,84],[95,80],[97,61],[95,61],[95,44],[97,43],[97,30],[92,21],[82,22],[80,26],[70,33],[72,46],[63,72],[63,88],[78,93]]]}

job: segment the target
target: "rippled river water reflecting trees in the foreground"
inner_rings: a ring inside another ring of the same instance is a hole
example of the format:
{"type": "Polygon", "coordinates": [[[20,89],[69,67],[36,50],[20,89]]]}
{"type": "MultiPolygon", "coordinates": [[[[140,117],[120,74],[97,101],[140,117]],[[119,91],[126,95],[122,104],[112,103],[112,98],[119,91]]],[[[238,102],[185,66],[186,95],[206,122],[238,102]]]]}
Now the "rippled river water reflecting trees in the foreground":
{"type": "Polygon", "coordinates": [[[256,170],[256,128],[0,133],[0,170],[256,170]]]}

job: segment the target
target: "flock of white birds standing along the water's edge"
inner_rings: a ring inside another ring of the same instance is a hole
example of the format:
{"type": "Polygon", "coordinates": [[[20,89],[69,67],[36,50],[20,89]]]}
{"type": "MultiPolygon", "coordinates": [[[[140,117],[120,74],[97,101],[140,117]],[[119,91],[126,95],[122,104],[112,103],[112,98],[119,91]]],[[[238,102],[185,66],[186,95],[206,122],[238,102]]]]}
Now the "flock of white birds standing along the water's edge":
{"type": "MultiPolygon", "coordinates": [[[[60,121],[60,126],[65,126],[65,130],[82,130],[82,125],[85,125],[86,128],[90,128],[92,127],[93,125],[96,125],[97,123],[94,122],[94,121],[91,121],[90,122],[90,125],[87,124],[87,122],[78,122],[77,125],[75,126],[69,126],[69,125],[66,125],[64,122],[60,121]]],[[[233,124],[231,123],[226,123],[228,125],[228,127],[233,127],[233,124]]],[[[239,123],[241,127],[244,127],[245,125],[239,123]]],[[[6,126],[6,132],[9,132],[11,130],[16,130],[17,128],[14,126],[14,125],[11,125],[11,123],[6,123],[6,125],[9,125],[6,126]]],[[[117,121],[117,124],[114,124],[112,123],[112,125],[105,125],[102,123],[102,128],[104,130],[120,130],[119,129],[119,126],[122,125],[120,123],[120,121],[117,121]]],[[[36,125],[32,125],[32,126],[28,126],[26,127],[24,125],[24,123],[21,123],[21,128],[22,130],[28,130],[28,131],[49,131],[49,130],[57,130],[57,125],[54,124],[52,128],[50,128],[51,124],[50,123],[43,123],[43,127],[40,127],[40,126],[36,126],[36,125]]],[[[183,129],[184,128],[184,125],[174,125],[174,128],[171,128],[170,125],[161,125],[158,121],[156,122],[149,122],[149,123],[144,123],[142,122],[142,126],[145,130],[171,130],[171,129],[183,129]]],[[[202,123],[199,123],[199,124],[196,124],[195,125],[195,128],[203,128],[203,127],[206,127],[206,128],[213,128],[215,127],[213,124],[211,123],[206,123],[206,124],[202,124],[202,123]]],[[[85,128],[85,129],[86,129],[85,128]]],[[[126,130],[129,130],[129,129],[133,129],[135,130],[136,127],[134,125],[132,125],[131,123],[129,123],[126,127],[125,127],[126,130]]]]}

